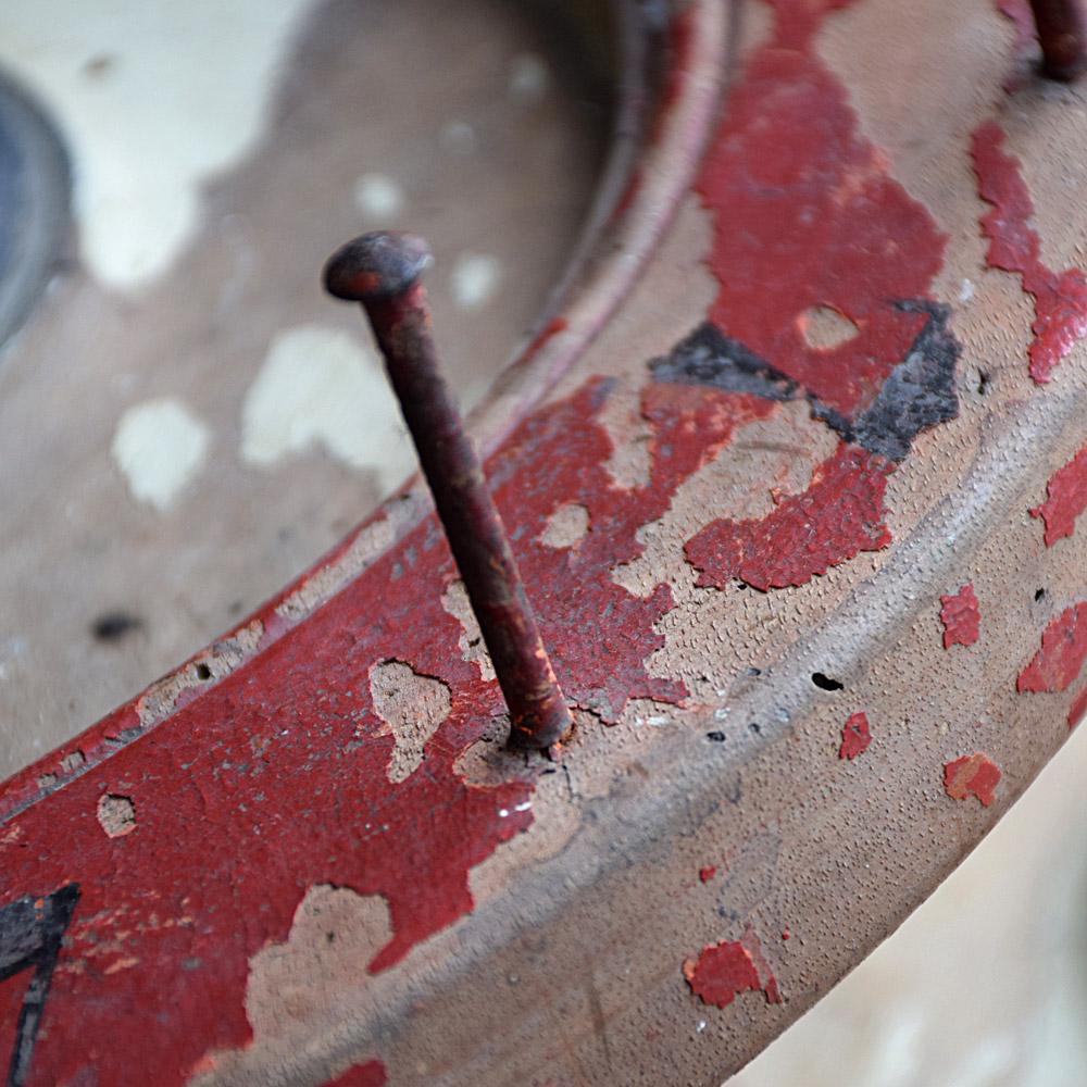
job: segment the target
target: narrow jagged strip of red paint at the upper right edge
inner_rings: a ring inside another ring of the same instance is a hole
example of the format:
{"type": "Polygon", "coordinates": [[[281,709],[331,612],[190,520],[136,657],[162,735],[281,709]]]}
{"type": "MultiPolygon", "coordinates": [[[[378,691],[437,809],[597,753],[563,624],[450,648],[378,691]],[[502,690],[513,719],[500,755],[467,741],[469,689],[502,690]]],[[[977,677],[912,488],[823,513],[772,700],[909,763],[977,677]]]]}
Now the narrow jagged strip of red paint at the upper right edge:
{"type": "Polygon", "coordinates": [[[1019,160],[1003,150],[1003,142],[1004,133],[995,121],[982,125],[972,141],[978,195],[992,204],[982,218],[989,239],[986,260],[990,267],[1016,273],[1023,289],[1034,296],[1029,368],[1042,385],[1087,335],[1087,276],[1079,268],[1058,273],[1041,263],[1038,234],[1029,225],[1034,204],[1019,160]]]}

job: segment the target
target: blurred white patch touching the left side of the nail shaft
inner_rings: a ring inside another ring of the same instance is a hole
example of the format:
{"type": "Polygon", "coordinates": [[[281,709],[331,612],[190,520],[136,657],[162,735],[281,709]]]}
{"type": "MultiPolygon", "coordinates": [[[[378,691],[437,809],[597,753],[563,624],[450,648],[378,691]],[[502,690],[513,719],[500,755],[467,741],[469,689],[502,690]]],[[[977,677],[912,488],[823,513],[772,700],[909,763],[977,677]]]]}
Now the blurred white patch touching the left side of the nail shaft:
{"type": "Polygon", "coordinates": [[[383,491],[415,459],[376,352],[348,333],[299,325],[272,342],[241,407],[241,457],[266,467],[321,448],[377,474],[383,491]]]}

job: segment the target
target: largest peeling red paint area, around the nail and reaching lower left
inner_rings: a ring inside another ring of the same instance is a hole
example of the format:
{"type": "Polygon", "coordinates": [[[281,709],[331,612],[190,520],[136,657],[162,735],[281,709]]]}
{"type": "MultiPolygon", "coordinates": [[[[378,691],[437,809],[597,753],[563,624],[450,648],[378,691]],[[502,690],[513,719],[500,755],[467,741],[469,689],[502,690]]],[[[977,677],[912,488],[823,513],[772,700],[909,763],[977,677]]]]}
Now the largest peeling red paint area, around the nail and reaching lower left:
{"type": "MultiPolygon", "coordinates": [[[[650,479],[625,488],[608,471],[613,448],[597,418],[609,389],[592,380],[538,412],[488,472],[567,697],[611,721],[629,698],[685,694],[646,667],[663,645],[653,624],[672,607],[669,587],[642,599],[616,585],[612,569],[641,553],[638,529],[737,427],[778,409],[712,389],[647,387],[650,479]],[[577,548],[547,547],[540,536],[567,502],[588,510],[589,532],[577,548]]],[[[71,879],[83,888],[32,1084],[80,1075],[80,1039],[110,1036],[120,1021],[143,1039],[142,1055],[117,1046],[93,1059],[98,1080],[118,1087],[180,1084],[207,1054],[247,1045],[249,960],[287,938],[313,884],[385,897],[392,936],[373,972],[472,909],[468,872],[530,824],[533,782],[526,771],[484,787],[455,773],[502,702],[460,654],[460,624],[441,605],[454,577],[429,518],[249,664],[14,816],[18,834],[0,840],[0,903],[71,879]],[[423,765],[401,783],[386,774],[395,739],[368,682],[389,659],[450,691],[423,765]],[[102,834],[103,790],[132,798],[138,834],[102,834]]],[[[120,736],[117,723],[129,720],[118,711],[109,727],[120,736]]]]}

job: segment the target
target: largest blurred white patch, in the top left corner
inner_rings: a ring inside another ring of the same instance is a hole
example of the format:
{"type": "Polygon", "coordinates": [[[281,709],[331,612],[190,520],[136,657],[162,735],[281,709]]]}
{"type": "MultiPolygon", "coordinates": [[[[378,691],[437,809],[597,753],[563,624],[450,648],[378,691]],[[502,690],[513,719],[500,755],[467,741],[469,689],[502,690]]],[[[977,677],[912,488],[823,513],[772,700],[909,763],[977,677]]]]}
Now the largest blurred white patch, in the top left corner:
{"type": "Polygon", "coordinates": [[[99,279],[130,291],[170,267],[199,224],[204,179],[260,137],[313,2],[0,4],[0,65],[63,133],[80,251],[99,279]]]}

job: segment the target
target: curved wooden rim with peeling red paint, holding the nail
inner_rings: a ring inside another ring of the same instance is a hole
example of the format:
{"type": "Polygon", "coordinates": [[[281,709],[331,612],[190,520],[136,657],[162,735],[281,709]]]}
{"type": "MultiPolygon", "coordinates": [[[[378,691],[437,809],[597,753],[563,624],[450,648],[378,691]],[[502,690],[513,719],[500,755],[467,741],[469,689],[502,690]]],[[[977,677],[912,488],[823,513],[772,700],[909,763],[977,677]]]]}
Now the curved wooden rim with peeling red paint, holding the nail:
{"type": "Polygon", "coordinates": [[[699,0],[663,41],[474,421],[561,761],[505,749],[409,485],[4,786],[13,1082],[719,1083],[1087,709],[1085,121],[1028,9],[699,0]]]}

